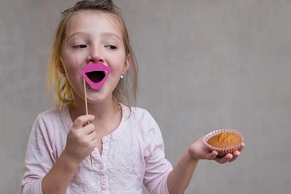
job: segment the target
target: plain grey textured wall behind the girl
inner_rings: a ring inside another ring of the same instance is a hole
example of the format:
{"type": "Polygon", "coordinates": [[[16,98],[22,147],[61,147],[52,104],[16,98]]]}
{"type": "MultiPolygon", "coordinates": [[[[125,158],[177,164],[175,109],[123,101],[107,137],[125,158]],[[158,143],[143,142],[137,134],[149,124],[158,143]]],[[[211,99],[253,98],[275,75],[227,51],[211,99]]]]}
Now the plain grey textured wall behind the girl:
{"type": "MultiPolygon", "coordinates": [[[[291,0],[115,0],[140,67],[138,105],[175,165],[198,137],[234,128],[238,161],[201,161],[186,194],[290,194],[291,0]]],[[[52,34],[76,0],[0,2],[0,194],[19,194],[52,34]]],[[[145,192],[146,193],[146,192],[145,192]]]]}

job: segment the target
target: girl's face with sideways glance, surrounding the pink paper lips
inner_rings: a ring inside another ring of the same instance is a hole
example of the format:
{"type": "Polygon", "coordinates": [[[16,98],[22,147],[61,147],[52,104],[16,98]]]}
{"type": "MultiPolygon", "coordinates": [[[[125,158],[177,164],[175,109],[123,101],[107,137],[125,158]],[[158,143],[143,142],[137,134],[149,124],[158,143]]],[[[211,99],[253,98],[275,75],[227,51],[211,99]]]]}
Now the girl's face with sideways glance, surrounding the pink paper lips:
{"type": "Polygon", "coordinates": [[[86,83],[87,100],[99,103],[112,100],[112,93],[122,72],[129,68],[125,56],[122,33],[113,16],[93,11],[78,13],[67,26],[68,37],[62,46],[64,66],[60,67],[73,88],[75,100],[84,99],[83,77],[81,70],[89,62],[102,62],[112,68],[104,85],[97,90],[86,83]]]}

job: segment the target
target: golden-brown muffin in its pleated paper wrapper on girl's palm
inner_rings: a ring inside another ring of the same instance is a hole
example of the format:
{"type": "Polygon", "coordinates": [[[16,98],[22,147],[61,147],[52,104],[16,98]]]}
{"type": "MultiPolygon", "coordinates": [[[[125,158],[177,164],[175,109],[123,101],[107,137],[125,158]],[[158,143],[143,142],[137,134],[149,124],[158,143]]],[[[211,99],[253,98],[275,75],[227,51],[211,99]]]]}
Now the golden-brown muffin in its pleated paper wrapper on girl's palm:
{"type": "Polygon", "coordinates": [[[217,151],[218,156],[225,156],[239,150],[243,139],[242,133],[237,130],[220,129],[207,134],[203,142],[211,151],[217,151]]]}

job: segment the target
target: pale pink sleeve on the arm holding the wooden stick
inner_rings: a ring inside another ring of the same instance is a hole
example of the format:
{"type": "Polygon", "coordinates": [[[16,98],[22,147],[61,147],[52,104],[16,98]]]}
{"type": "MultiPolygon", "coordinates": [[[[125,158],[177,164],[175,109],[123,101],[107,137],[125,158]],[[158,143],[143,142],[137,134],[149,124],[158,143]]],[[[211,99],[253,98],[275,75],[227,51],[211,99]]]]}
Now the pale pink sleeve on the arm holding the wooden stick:
{"type": "Polygon", "coordinates": [[[42,179],[54,163],[49,131],[43,117],[39,115],[33,124],[28,142],[21,193],[42,194],[42,179]]]}

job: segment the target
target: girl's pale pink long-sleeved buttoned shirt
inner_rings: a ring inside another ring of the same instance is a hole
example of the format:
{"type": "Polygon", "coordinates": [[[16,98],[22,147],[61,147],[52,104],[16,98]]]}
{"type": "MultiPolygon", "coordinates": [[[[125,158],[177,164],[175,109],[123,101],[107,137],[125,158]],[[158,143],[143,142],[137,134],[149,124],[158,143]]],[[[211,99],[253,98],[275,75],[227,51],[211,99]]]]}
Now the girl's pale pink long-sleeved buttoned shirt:
{"type": "MultiPolygon", "coordinates": [[[[38,115],[30,135],[22,194],[42,194],[41,181],[58,160],[73,125],[69,109],[38,115]]],[[[79,166],[65,194],[168,194],[167,177],[173,169],[164,158],[161,131],[146,110],[122,105],[117,129],[102,138],[100,156],[93,151],[79,166]]]]}

